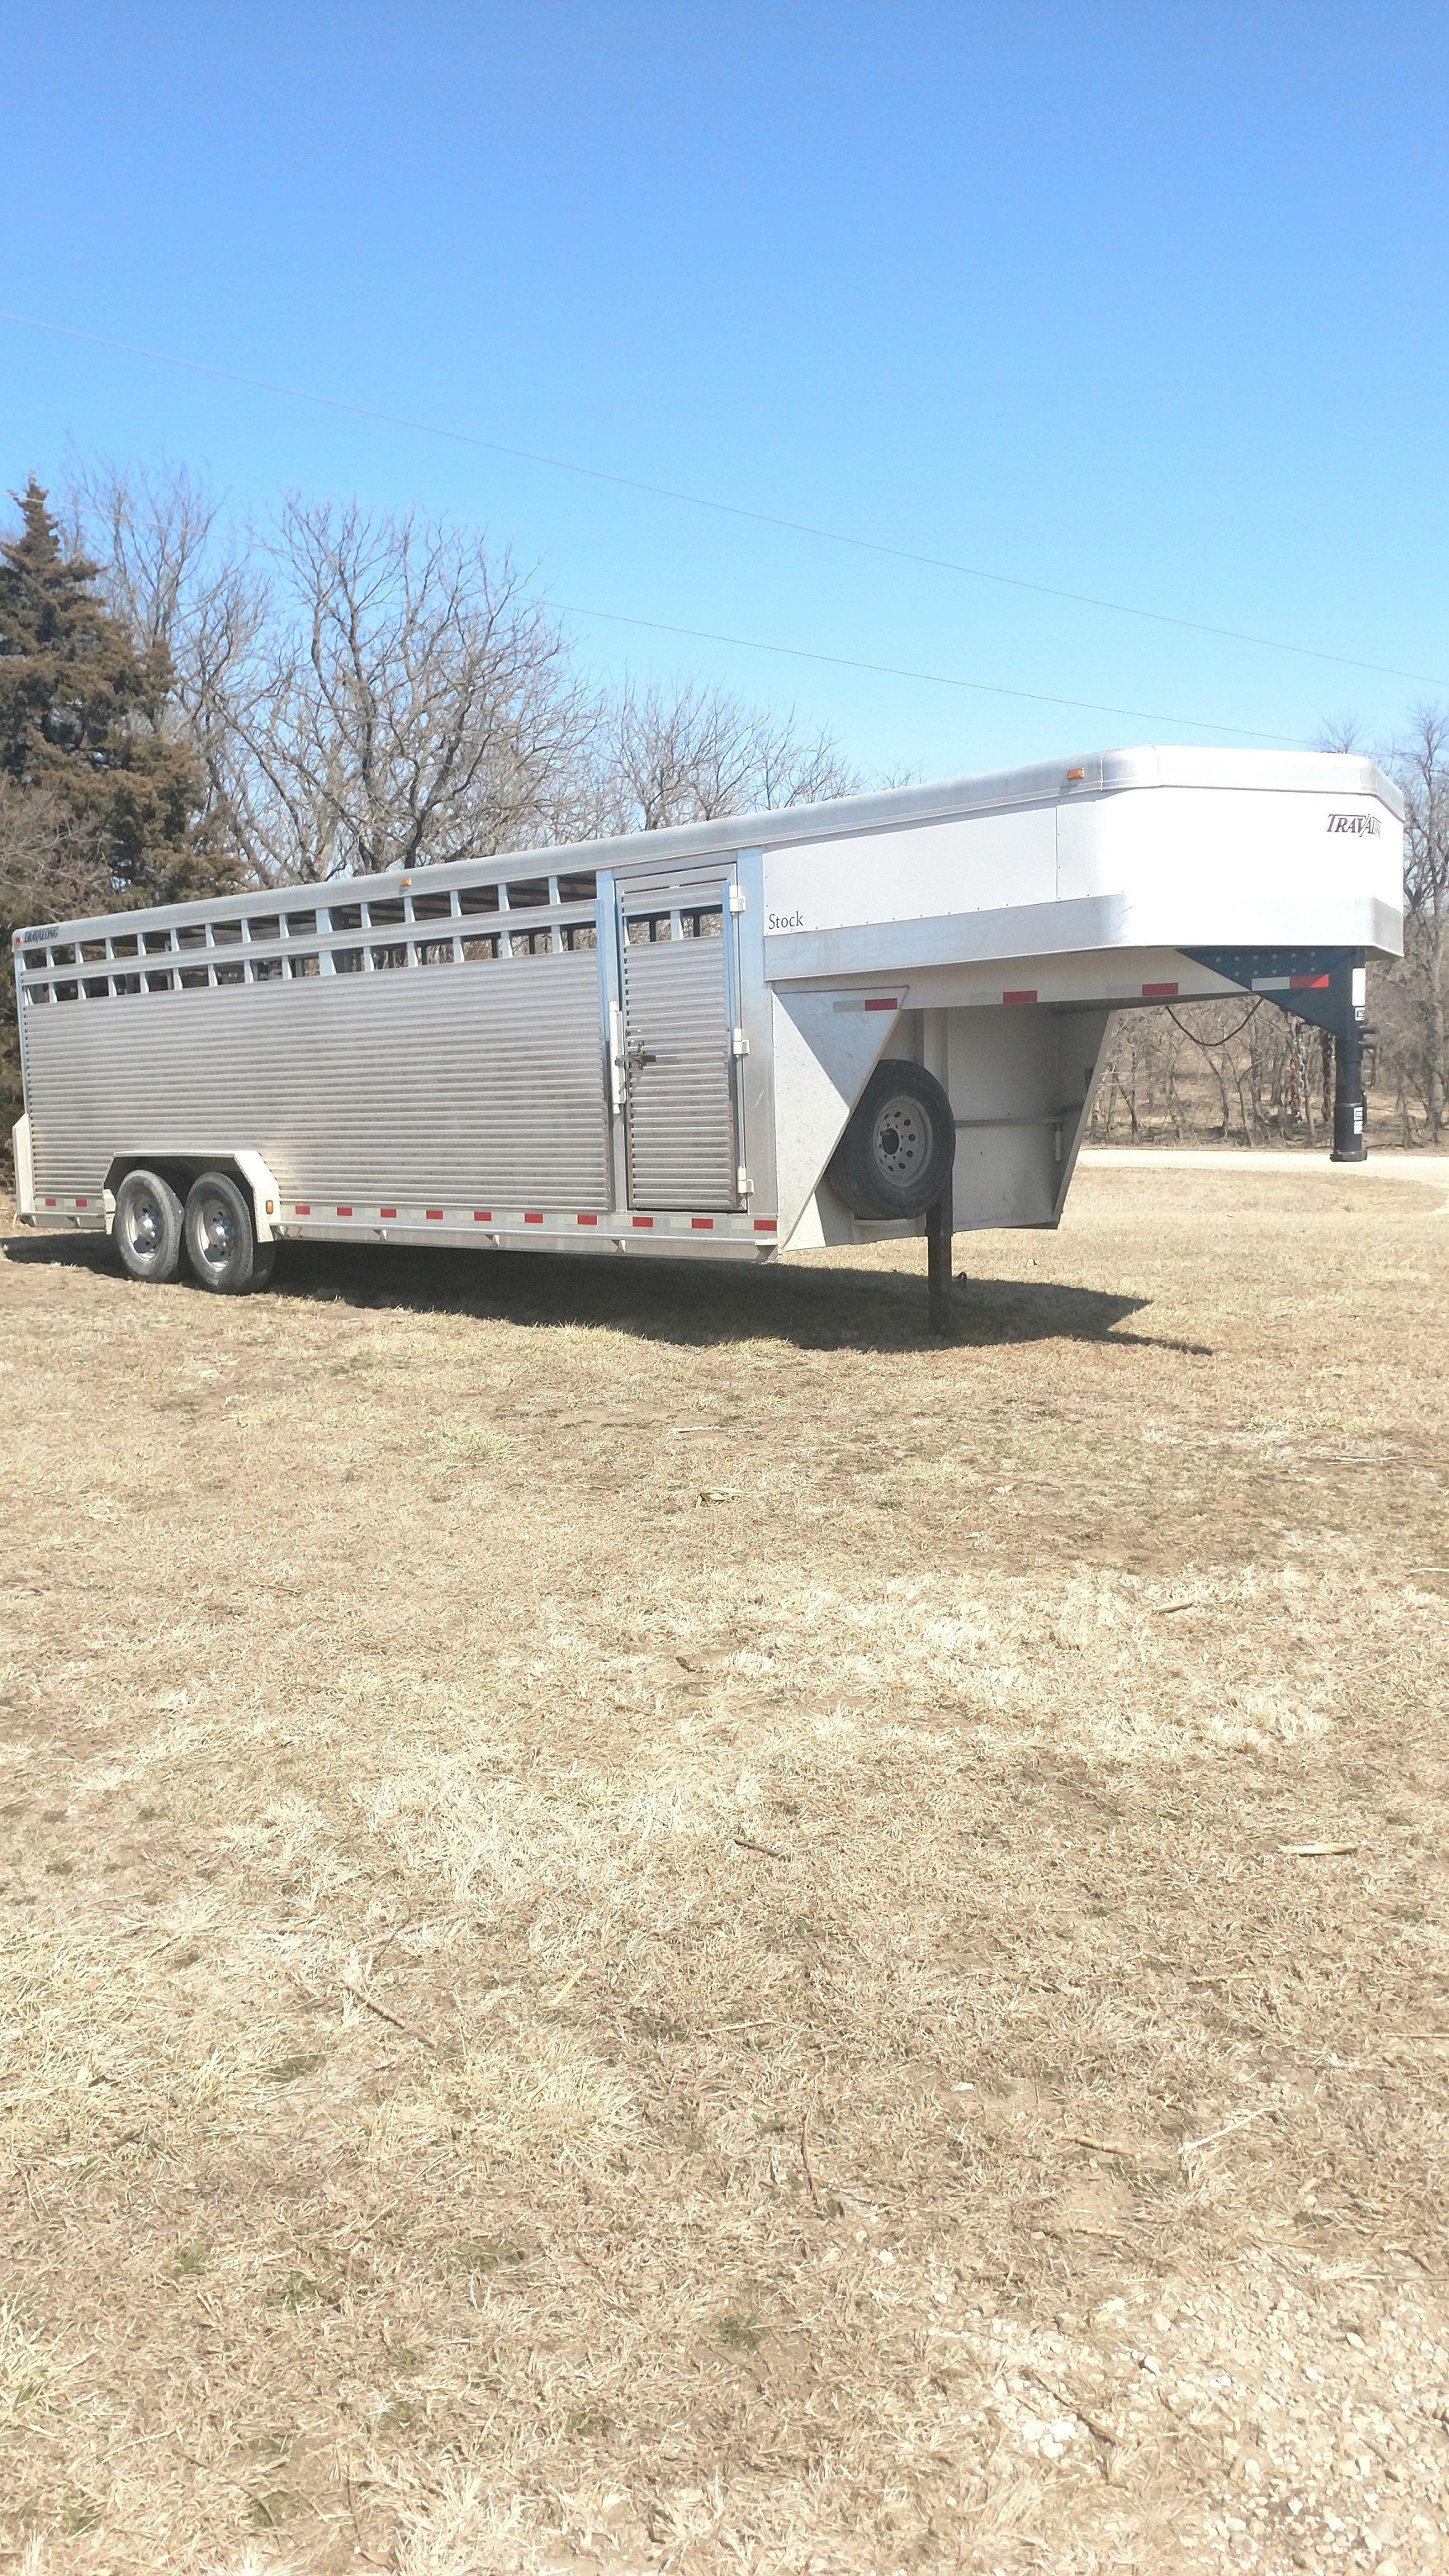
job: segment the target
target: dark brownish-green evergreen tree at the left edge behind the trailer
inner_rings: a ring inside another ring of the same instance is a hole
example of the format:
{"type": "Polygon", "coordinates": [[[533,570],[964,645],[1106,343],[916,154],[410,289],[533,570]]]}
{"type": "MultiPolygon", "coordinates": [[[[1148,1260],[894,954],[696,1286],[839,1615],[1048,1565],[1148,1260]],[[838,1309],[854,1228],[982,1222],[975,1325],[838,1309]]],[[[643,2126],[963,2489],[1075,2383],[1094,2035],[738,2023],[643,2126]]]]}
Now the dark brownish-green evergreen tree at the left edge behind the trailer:
{"type": "Polygon", "coordinates": [[[0,544],[0,778],[70,817],[116,907],[229,884],[196,837],[201,770],[165,729],[165,647],[137,649],[95,590],[101,567],[62,549],[34,477],[15,500],[21,533],[0,544]]]}

